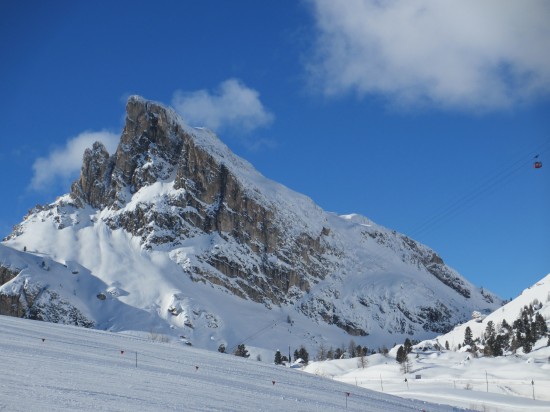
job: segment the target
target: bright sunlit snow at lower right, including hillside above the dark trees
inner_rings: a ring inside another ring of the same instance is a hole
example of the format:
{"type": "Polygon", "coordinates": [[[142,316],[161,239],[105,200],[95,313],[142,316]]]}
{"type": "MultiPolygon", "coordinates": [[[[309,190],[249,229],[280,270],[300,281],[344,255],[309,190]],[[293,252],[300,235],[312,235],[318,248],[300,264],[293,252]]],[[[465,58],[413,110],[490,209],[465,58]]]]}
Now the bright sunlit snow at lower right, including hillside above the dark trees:
{"type": "Polygon", "coordinates": [[[547,336],[540,338],[529,353],[519,348],[516,353],[505,352],[506,356],[484,357],[480,353],[466,352],[466,348],[457,350],[458,345],[464,343],[466,327],[471,328],[473,339],[482,338],[489,321],[498,331],[503,320],[512,325],[520,311],[529,305],[543,316],[547,325],[550,324],[550,274],[493,313],[472,319],[436,339],[414,345],[408,356],[410,372],[407,374],[403,374],[395,361],[399,345],[387,356],[368,356],[366,368],[359,367],[356,358],[313,362],[305,371],[358,387],[479,411],[549,411],[550,346],[547,346],[547,336]],[[445,342],[449,343],[450,350],[443,349],[445,342]],[[416,379],[417,375],[420,379],[416,379]]]}

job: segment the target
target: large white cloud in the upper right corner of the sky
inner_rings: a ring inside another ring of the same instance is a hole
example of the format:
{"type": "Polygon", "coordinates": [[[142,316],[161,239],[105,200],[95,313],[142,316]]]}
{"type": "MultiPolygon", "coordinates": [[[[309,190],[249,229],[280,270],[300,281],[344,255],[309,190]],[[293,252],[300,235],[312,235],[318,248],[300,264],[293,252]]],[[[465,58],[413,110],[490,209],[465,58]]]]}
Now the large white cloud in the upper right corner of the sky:
{"type": "Polygon", "coordinates": [[[329,96],[498,110],[550,94],[547,0],[310,0],[329,96]]]}

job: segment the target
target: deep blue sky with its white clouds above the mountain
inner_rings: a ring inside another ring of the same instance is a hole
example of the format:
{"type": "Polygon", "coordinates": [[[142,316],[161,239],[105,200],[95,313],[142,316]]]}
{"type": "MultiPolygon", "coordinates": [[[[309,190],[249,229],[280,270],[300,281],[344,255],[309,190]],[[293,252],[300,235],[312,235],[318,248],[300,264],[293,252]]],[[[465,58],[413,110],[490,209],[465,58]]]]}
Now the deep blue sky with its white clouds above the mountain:
{"type": "Polygon", "coordinates": [[[514,297],[550,272],[549,22],[544,0],[4,0],[0,231],[139,94],[514,297]]]}

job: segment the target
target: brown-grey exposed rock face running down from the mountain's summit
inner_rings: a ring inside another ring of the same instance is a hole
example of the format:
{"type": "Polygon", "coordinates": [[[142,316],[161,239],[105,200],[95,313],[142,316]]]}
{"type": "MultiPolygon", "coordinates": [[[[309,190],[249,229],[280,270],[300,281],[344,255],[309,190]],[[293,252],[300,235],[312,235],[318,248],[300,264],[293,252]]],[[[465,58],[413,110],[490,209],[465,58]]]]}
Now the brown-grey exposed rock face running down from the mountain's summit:
{"type": "Polygon", "coordinates": [[[177,246],[182,238],[217,232],[253,256],[254,262],[245,266],[223,253],[202,257],[223,275],[236,279],[237,288],[217,273],[195,270],[195,275],[258,302],[280,304],[291,288],[307,291],[310,277],[326,276],[331,265],[323,256],[321,231],[294,236],[283,232],[289,222],[278,221],[275,210],[245,193],[232,171],[198,146],[195,136],[169,109],[131,98],[126,110],[116,153],[109,157],[100,143],[86,150],[80,179],[72,186],[71,196],[77,204],[120,209],[141,188],[172,178],[176,195],[163,199],[166,211],[139,204],[132,211],[113,215],[107,220],[109,226],[141,236],[148,248],[177,246]]]}

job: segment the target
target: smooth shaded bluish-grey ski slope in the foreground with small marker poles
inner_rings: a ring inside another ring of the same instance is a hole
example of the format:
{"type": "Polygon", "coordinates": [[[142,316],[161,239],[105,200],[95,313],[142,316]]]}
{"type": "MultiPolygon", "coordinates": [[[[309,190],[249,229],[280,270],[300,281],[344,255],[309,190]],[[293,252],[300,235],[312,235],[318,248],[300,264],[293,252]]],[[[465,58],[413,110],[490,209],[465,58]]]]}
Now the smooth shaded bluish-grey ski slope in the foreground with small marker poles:
{"type": "Polygon", "coordinates": [[[0,316],[0,410],[457,410],[152,338],[0,316]]]}

